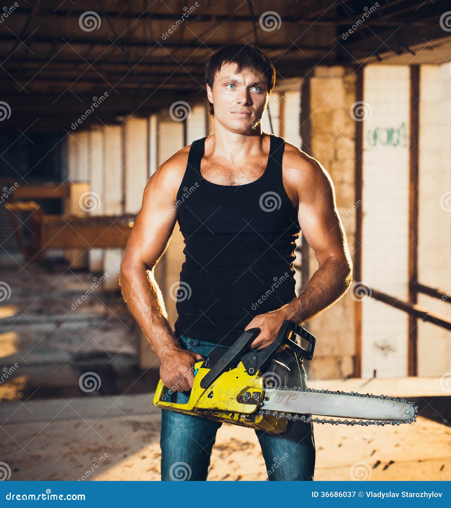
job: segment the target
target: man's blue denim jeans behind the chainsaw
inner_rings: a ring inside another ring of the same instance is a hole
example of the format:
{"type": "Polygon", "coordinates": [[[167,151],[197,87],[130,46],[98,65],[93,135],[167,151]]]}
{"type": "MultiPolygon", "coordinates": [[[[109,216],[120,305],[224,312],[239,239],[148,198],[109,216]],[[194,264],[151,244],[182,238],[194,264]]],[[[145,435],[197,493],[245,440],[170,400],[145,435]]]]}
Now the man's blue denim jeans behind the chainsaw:
{"type": "MultiPolygon", "coordinates": [[[[180,345],[188,351],[199,353],[204,358],[215,347],[226,347],[184,335],[180,345]]],[[[301,365],[301,377],[305,385],[305,370],[301,365]]],[[[185,403],[190,392],[174,392],[171,400],[185,403]]],[[[162,409],[162,481],[206,480],[210,455],[216,440],[216,432],[222,425],[204,418],[183,415],[162,409]]],[[[251,429],[248,429],[249,431],[251,429]]],[[[300,421],[289,421],[286,432],[275,435],[255,430],[262,448],[270,481],[313,480],[315,469],[315,442],[313,425],[300,421]]],[[[224,464],[225,467],[225,464],[224,464]]]]}

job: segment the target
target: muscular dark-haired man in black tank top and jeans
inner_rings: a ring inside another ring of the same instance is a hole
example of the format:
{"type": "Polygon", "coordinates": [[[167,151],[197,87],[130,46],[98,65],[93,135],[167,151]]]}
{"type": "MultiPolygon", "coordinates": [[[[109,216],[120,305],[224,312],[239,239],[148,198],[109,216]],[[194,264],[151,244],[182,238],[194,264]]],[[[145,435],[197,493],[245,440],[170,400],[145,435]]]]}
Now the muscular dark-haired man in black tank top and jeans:
{"type": "MultiPolygon", "coordinates": [[[[250,45],[227,46],[208,61],[206,84],[214,134],[179,150],[149,179],[121,266],[124,299],[177,402],[188,400],[192,366],[213,348],[258,327],[251,346],[261,350],[284,320],[310,320],[346,292],[352,277],[328,173],[296,146],[262,132],[275,84],[269,58],[250,45]],[[185,262],[173,332],[153,270],[176,220],[185,262]],[[319,267],[296,297],[301,229],[319,267]]],[[[163,410],[162,480],[178,480],[181,463],[185,479],[206,480],[220,425],[163,410]]],[[[311,423],[289,422],[281,435],[256,433],[269,480],[313,480],[311,423]]]]}

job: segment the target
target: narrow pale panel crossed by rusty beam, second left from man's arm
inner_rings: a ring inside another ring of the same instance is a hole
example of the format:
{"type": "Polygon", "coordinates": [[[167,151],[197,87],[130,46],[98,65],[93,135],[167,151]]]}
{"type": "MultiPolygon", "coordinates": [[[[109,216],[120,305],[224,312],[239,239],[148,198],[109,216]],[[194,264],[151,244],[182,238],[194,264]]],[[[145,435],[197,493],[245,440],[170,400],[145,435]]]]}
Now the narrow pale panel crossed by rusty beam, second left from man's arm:
{"type": "MultiPolygon", "coordinates": [[[[105,213],[120,215],[122,213],[123,192],[123,143],[122,126],[105,126],[104,161],[105,161],[105,213]]],[[[120,263],[123,257],[123,249],[104,249],[103,272],[108,277],[102,287],[105,291],[117,291],[119,289],[120,263]]]]}

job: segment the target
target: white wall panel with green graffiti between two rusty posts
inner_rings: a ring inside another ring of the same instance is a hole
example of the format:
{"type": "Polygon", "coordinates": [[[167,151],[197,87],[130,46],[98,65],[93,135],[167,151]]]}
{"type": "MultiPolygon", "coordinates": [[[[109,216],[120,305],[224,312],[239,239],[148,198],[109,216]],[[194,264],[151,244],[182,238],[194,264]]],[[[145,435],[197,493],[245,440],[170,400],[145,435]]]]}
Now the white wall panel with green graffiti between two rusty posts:
{"type": "MultiPolygon", "coordinates": [[[[408,298],[408,66],[364,70],[362,276],[375,289],[408,298]]],[[[346,144],[342,149],[348,151],[346,144]]],[[[350,189],[352,192],[352,189],[350,189]]],[[[408,316],[373,298],[363,303],[362,367],[378,377],[407,375],[408,316]]]]}

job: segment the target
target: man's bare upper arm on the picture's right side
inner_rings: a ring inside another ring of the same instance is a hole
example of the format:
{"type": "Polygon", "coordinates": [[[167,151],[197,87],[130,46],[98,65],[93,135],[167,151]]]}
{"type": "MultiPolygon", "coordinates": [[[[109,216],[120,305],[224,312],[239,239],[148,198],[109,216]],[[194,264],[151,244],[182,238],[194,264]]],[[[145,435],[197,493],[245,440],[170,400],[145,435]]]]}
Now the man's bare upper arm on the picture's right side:
{"type": "Polygon", "coordinates": [[[300,189],[298,219],[302,234],[321,265],[330,257],[344,255],[344,239],[333,183],[317,162],[309,165],[308,176],[300,189]]]}

